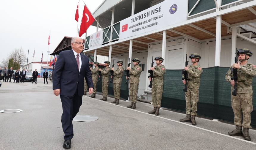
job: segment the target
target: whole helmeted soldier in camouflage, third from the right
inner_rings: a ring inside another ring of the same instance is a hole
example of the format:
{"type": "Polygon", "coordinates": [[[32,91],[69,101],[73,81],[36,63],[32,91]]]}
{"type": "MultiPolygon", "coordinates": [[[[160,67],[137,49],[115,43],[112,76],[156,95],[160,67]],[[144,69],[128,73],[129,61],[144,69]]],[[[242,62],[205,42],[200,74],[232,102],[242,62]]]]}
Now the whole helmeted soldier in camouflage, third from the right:
{"type": "Polygon", "coordinates": [[[151,67],[150,70],[153,71],[154,79],[149,78],[152,80],[152,102],[154,109],[149,111],[150,114],[155,114],[156,116],[159,115],[159,109],[161,107],[161,100],[163,94],[163,78],[166,69],[164,65],[162,65],[163,58],[161,56],[155,57],[155,61],[157,66],[151,67]]]}

